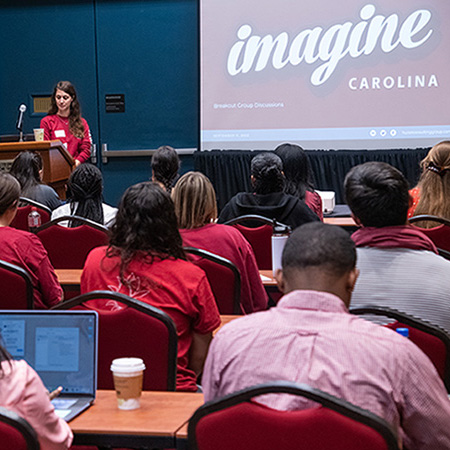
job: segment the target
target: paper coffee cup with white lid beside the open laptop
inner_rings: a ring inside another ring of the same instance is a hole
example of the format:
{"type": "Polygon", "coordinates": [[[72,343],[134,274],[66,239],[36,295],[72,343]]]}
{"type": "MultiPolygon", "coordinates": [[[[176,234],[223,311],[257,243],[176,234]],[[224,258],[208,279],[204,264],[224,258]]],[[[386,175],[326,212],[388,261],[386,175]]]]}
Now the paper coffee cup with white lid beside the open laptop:
{"type": "Polygon", "coordinates": [[[111,364],[119,409],[136,409],[140,405],[144,361],[140,358],[118,358],[111,364]]]}

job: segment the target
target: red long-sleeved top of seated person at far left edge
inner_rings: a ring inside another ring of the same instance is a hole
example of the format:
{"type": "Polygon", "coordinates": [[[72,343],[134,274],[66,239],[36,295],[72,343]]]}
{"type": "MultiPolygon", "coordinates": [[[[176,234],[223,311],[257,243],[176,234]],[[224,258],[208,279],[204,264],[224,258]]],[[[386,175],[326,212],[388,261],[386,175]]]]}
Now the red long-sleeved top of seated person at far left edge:
{"type": "Polygon", "coordinates": [[[58,277],[37,236],[28,231],[0,227],[0,259],[29,273],[36,309],[47,309],[61,301],[58,277]]]}

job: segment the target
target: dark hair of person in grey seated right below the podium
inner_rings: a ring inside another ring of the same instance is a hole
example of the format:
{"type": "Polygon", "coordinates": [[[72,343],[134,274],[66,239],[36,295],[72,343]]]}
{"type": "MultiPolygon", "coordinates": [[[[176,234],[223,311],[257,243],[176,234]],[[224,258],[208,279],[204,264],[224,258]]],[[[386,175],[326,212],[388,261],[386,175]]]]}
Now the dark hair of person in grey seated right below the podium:
{"type": "Polygon", "coordinates": [[[22,197],[31,196],[34,188],[42,184],[39,174],[41,170],[42,158],[39,153],[22,152],[16,156],[9,173],[20,183],[22,197]]]}

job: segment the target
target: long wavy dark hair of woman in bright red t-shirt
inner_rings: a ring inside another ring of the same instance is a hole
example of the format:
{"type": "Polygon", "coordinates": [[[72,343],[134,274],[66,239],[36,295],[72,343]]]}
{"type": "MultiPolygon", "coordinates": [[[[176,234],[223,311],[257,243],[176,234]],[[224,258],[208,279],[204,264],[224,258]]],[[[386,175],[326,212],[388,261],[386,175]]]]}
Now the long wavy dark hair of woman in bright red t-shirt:
{"type": "Polygon", "coordinates": [[[158,259],[186,259],[170,195],[152,182],[129,187],[123,194],[110,231],[107,256],[120,256],[120,278],[136,256],[149,264],[158,259]]]}

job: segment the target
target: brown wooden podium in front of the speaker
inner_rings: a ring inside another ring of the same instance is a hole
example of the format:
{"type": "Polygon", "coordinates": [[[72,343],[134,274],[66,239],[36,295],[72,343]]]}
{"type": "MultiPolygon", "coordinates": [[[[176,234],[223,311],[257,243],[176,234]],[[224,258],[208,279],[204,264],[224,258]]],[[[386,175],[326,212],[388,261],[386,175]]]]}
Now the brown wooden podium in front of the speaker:
{"type": "Polygon", "coordinates": [[[6,142],[0,144],[0,165],[7,166],[19,153],[27,150],[41,155],[44,169],[42,181],[64,200],[66,183],[75,165],[72,155],[60,141],[6,142]]]}

